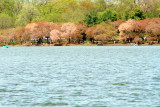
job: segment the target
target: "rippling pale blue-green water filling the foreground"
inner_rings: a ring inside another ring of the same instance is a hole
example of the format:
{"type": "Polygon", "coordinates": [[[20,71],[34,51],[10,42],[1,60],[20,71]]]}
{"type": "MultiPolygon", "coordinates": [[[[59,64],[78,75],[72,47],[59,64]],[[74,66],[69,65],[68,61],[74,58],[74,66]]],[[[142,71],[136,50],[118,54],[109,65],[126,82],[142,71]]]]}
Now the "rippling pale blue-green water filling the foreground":
{"type": "Polygon", "coordinates": [[[0,106],[159,107],[160,47],[0,48],[0,106]]]}

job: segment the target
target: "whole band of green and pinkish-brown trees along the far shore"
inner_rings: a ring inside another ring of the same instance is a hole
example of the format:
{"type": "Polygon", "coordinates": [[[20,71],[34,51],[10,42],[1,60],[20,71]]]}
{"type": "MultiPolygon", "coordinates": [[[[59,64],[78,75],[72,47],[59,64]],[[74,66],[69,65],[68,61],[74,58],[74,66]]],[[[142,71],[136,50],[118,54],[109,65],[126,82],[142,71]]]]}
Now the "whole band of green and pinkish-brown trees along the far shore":
{"type": "Polygon", "coordinates": [[[159,17],[159,0],[0,0],[0,41],[159,42],[159,17]]]}

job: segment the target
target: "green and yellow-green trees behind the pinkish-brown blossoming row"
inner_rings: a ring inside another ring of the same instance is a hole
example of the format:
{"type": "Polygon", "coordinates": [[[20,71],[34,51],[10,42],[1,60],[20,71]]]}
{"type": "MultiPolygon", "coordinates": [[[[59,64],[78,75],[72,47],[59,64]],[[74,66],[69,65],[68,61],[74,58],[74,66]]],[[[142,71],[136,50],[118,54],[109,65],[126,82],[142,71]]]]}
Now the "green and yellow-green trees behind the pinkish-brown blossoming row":
{"type": "Polygon", "coordinates": [[[12,27],[34,21],[94,26],[108,20],[159,17],[159,6],[159,0],[0,0],[0,14],[12,18],[12,27]]]}

